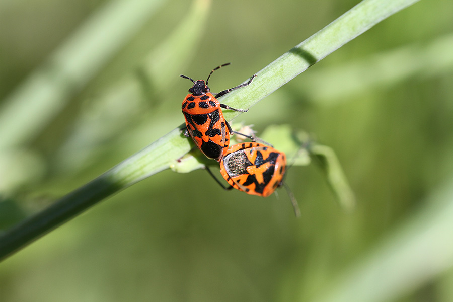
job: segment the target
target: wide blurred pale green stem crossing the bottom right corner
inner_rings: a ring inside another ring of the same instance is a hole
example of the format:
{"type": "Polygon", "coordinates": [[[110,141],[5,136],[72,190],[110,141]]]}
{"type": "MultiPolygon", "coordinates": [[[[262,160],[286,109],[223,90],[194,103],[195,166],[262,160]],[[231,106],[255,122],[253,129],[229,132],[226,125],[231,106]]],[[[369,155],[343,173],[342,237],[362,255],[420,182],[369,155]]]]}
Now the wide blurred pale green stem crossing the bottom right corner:
{"type": "MultiPolygon", "coordinates": [[[[395,301],[453,265],[453,178],[313,302],[395,301]]],[[[300,299],[306,301],[307,299],[300,299]]]]}

